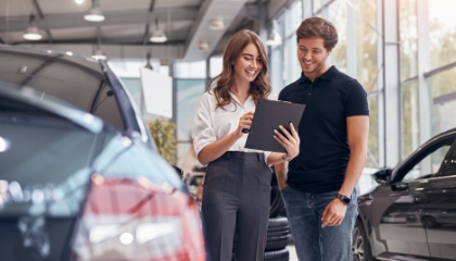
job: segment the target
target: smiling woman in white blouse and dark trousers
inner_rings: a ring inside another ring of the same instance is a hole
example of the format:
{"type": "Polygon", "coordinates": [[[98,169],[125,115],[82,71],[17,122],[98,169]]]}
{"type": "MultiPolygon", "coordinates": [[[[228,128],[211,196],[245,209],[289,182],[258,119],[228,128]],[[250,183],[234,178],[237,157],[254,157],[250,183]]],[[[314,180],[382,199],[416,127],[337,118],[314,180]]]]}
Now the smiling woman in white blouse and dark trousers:
{"type": "Polygon", "coordinates": [[[233,35],[224,51],[223,72],[208,85],[215,88],[201,99],[193,126],[198,160],[208,164],[202,213],[212,260],[230,261],[235,227],[239,261],[263,260],[269,216],[268,165],[290,161],[299,153],[300,139],[292,125],[287,137],[274,137],[288,153],[245,149],[259,99],[270,99],[268,65],[261,38],[253,32],[233,35]]]}

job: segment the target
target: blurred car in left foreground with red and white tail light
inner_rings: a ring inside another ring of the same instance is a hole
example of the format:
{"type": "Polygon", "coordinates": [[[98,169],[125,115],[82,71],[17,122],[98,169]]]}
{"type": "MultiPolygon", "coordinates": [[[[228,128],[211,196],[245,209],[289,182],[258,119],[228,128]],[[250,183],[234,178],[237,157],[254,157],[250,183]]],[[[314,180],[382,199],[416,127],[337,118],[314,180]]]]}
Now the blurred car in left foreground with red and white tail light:
{"type": "Polygon", "coordinates": [[[0,260],[206,260],[197,203],[105,62],[0,46],[0,260]]]}

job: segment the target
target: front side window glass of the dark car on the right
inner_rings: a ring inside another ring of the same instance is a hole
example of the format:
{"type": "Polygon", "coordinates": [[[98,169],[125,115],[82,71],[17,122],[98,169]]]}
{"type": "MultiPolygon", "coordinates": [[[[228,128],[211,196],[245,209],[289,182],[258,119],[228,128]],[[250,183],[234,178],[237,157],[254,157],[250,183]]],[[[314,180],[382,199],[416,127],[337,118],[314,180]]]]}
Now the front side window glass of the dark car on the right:
{"type": "Polygon", "coordinates": [[[441,142],[436,146],[434,145],[432,146],[432,149],[425,151],[423,154],[413,162],[411,167],[407,167],[408,171],[406,171],[403,182],[411,182],[435,175],[451,148],[452,141],[453,139],[451,141],[441,142]]]}

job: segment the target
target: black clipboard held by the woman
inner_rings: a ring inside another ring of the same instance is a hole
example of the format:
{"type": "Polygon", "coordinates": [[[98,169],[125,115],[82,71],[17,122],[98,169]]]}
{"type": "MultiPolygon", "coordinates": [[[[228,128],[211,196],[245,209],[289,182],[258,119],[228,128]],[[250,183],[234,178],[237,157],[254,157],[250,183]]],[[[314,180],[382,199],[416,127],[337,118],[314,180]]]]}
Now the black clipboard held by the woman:
{"type": "Polygon", "coordinates": [[[245,148],[275,152],[287,150],[274,138],[274,129],[282,125],[290,132],[290,122],[297,130],[305,104],[288,101],[259,100],[253,114],[245,148]]]}

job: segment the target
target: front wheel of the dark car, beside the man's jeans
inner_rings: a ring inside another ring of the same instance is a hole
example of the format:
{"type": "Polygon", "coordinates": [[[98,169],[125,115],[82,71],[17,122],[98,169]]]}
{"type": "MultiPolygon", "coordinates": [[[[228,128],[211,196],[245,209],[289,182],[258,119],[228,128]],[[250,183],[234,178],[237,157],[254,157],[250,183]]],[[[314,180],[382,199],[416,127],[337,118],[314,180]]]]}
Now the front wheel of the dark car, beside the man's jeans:
{"type": "Polygon", "coordinates": [[[360,220],[356,220],[353,229],[352,253],[354,261],[372,261],[372,252],[370,251],[369,240],[367,239],[360,220]]]}

